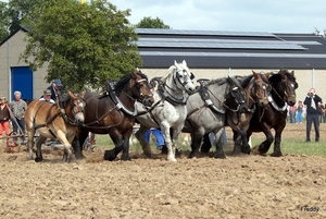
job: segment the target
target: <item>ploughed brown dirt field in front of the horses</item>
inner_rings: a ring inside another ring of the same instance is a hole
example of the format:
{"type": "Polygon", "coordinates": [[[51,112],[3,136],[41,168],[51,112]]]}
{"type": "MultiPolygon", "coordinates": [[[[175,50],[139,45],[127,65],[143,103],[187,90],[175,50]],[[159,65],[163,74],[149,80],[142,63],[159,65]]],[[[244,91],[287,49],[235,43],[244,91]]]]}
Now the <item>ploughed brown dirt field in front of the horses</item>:
{"type": "MultiPolygon", "coordinates": [[[[291,125],[284,135],[304,133],[291,125]]],[[[183,151],[167,162],[131,151],[131,161],[110,162],[85,153],[63,163],[61,149],[43,149],[36,163],[21,150],[0,153],[0,218],[326,218],[325,157],[183,151]]]]}

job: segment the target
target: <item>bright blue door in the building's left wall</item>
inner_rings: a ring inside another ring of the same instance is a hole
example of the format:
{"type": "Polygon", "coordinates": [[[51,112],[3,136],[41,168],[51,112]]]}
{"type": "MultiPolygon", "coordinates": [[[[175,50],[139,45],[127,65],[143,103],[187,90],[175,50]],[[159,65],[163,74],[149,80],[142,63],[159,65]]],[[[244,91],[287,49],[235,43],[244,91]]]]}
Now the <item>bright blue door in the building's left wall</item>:
{"type": "Polygon", "coordinates": [[[33,100],[33,72],[29,66],[11,68],[11,95],[13,99],[15,90],[22,93],[22,99],[33,100]]]}

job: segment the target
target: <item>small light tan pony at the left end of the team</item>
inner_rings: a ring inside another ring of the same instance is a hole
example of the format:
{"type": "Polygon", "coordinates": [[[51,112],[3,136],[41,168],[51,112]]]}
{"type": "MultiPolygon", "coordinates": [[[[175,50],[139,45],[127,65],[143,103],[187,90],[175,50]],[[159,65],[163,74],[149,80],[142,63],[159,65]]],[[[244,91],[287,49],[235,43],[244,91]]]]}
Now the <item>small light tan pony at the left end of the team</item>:
{"type": "Polygon", "coordinates": [[[84,93],[68,96],[59,104],[50,104],[43,100],[34,100],[28,105],[25,112],[25,123],[28,136],[27,147],[29,159],[33,159],[33,146],[35,131],[39,137],[36,141],[36,162],[42,161],[41,145],[47,138],[58,138],[64,146],[64,161],[72,160],[71,143],[78,133],[78,126],[85,121],[84,93]]]}

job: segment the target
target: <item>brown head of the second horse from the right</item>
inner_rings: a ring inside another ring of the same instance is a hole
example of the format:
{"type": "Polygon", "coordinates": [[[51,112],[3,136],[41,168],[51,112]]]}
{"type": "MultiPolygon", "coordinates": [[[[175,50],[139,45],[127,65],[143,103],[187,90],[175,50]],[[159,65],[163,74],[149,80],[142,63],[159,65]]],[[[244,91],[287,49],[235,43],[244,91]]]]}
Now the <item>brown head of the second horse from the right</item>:
{"type": "Polygon", "coordinates": [[[268,105],[268,94],[272,90],[272,86],[265,74],[252,71],[252,75],[253,86],[251,87],[250,96],[259,107],[265,107],[268,105]]]}

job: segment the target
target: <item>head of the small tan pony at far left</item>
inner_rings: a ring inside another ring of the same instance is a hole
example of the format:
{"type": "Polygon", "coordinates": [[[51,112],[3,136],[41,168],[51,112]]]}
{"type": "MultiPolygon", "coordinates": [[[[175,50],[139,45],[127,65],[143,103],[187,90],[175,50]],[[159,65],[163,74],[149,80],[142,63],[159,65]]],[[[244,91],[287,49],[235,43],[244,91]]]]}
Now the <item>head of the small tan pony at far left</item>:
{"type": "MultiPolygon", "coordinates": [[[[68,92],[70,99],[68,101],[71,102],[66,107],[71,107],[72,115],[73,119],[70,117],[70,120],[74,121],[74,124],[83,124],[85,121],[85,107],[86,102],[84,99],[85,93],[83,92],[82,94],[73,94],[72,92],[68,92]]],[[[67,110],[66,110],[67,111],[67,110]]]]}

